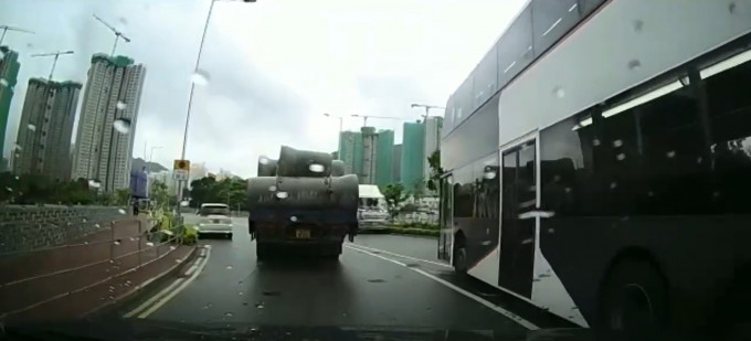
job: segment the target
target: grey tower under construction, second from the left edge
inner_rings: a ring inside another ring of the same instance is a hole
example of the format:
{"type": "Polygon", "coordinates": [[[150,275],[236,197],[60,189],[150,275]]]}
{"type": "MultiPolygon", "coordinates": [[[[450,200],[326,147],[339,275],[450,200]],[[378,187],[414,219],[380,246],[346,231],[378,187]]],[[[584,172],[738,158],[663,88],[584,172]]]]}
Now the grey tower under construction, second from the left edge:
{"type": "Polygon", "coordinates": [[[70,179],[71,137],[81,87],[75,82],[29,79],[15,138],[14,173],[70,179]]]}

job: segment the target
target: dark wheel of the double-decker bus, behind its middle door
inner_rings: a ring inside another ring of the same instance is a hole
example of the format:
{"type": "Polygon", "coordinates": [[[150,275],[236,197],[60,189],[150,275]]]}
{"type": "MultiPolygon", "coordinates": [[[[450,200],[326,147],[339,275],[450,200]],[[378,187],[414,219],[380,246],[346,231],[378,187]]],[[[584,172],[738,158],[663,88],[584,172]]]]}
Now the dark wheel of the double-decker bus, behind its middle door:
{"type": "Polygon", "coordinates": [[[666,316],[666,284],[659,271],[639,259],[618,262],[600,296],[603,338],[655,340],[665,329],[666,316]]]}

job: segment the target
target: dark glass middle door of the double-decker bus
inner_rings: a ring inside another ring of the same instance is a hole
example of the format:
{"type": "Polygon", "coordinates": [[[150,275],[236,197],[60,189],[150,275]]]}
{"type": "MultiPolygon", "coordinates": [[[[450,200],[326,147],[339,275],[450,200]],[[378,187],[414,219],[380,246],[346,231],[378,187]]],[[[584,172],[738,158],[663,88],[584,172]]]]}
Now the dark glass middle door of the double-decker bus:
{"type": "Polygon", "coordinates": [[[501,217],[498,285],[531,298],[537,219],[536,141],[501,150],[501,217]]]}

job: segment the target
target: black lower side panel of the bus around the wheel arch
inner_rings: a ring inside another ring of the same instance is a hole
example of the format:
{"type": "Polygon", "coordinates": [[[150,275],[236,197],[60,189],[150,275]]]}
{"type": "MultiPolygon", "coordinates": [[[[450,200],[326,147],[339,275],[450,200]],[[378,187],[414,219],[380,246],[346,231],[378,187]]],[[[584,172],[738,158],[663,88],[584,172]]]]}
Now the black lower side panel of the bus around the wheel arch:
{"type": "Polygon", "coordinates": [[[740,245],[751,238],[742,227],[750,225],[751,216],[549,219],[541,222],[540,248],[590,324],[609,266],[638,249],[669,278],[675,326],[701,326],[736,267],[751,259],[740,245]]]}

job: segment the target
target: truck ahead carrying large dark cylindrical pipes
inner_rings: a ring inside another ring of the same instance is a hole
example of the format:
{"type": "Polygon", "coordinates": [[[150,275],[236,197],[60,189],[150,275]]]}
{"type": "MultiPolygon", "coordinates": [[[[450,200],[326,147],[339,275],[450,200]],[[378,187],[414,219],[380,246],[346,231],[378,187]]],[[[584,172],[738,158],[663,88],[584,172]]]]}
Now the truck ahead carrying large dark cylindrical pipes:
{"type": "Polygon", "coordinates": [[[358,178],[326,152],[282,146],[277,160],[258,158],[247,181],[248,233],[256,258],[295,249],[338,258],[358,232],[358,178]]]}

